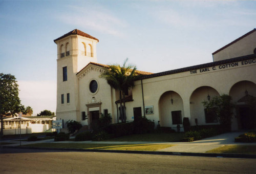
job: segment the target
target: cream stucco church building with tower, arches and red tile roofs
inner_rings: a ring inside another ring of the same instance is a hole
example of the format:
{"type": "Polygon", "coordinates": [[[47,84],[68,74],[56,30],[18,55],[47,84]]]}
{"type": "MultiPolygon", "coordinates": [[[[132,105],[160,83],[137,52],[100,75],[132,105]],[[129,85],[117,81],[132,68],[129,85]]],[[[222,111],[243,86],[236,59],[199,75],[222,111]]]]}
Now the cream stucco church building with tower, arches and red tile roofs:
{"type": "MultiPolygon", "coordinates": [[[[57,44],[56,117],[64,123],[75,120],[90,125],[100,114],[120,121],[119,91],[99,78],[105,64],[97,63],[99,40],[73,30],[54,40],[57,44]]],[[[212,53],[213,62],[160,73],[137,71],[141,78],[126,94],[126,121],[146,117],[164,127],[183,130],[190,125],[219,124],[205,112],[203,101],[227,94],[236,107],[232,130],[250,128],[255,116],[248,101],[256,97],[256,29],[212,53]]],[[[64,124],[64,130],[67,126],[64,124]]]]}

